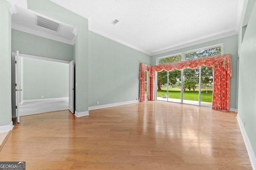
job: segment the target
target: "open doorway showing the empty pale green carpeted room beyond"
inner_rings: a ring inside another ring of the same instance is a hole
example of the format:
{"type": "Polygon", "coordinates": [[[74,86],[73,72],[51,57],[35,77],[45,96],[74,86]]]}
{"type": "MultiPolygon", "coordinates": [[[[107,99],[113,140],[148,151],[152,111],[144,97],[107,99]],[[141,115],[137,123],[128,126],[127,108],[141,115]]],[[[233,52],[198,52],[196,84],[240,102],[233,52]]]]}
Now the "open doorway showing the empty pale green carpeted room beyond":
{"type": "Polygon", "coordinates": [[[18,91],[19,107],[13,106],[13,112],[17,110],[24,116],[70,109],[74,113],[73,61],[24,54],[18,58],[19,81],[16,81],[22,91],[18,91]]]}

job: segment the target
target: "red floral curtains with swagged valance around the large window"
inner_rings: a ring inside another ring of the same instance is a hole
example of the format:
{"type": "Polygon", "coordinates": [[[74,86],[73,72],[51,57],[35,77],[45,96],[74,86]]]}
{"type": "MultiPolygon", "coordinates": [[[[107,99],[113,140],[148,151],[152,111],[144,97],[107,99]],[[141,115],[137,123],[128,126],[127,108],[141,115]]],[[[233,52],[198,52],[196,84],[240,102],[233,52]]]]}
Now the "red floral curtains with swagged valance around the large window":
{"type": "Polygon", "coordinates": [[[202,65],[206,67],[213,67],[214,88],[213,88],[212,108],[218,109],[218,110],[229,110],[230,78],[232,78],[230,54],[218,55],[213,57],[205,57],[205,58],[181,61],[176,63],[161,64],[161,65],[155,65],[155,66],[140,64],[140,80],[141,80],[140,102],[145,100],[145,97],[144,97],[145,84],[144,84],[144,77],[143,77],[144,73],[142,73],[142,70],[143,72],[144,71],[149,72],[148,100],[154,100],[155,72],[161,72],[162,70],[172,71],[174,69],[183,70],[185,68],[194,69],[202,65]],[[142,96],[142,94],[144,95],[142,96]]]}

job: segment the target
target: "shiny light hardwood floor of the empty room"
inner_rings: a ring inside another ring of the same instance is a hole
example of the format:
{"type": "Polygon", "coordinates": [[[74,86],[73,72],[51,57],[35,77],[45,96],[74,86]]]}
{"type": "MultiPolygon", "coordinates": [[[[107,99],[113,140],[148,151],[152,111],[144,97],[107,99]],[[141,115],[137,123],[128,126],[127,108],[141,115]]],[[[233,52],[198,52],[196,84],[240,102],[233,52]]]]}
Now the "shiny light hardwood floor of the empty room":
{"type": "Polygon", "coordinates": [[[147,101],[20,117],[1,161],[26,170],[251,170],[236,113],[147,101]]]}

